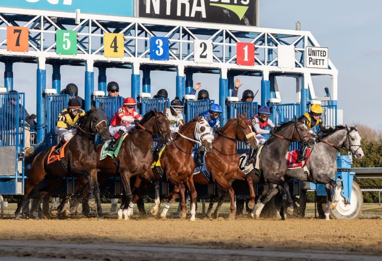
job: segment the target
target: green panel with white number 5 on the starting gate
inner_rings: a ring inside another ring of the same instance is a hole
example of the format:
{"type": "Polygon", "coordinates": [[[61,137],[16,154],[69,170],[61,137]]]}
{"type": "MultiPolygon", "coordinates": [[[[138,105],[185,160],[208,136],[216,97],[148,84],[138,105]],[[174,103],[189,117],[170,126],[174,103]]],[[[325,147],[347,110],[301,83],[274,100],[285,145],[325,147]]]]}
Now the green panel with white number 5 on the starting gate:
{"type": "Polygon", "coordinates": [[[76,31],[56,31],[56,54],[76,55],[77,35],[76,31]]]}

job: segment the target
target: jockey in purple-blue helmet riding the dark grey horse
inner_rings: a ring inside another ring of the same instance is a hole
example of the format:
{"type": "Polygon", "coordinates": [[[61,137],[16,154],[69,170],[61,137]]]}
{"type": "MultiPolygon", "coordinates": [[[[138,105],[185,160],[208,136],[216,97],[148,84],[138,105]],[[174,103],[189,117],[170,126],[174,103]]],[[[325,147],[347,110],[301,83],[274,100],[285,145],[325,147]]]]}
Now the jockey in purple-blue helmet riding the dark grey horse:
{"type": "MultiPolygon", "coordinates": [[[[267,106],[261,106],[258,110],[257,115],[254,115],[250,119],[250,124],[252,125],[253,131],[256,133],[256,140],[258,145],[264,145],[266,142],[266,138],[262,136],[263,134],[272,134],[274,124],[272,120],[269,118],[270,110],[267,106]],[[266,129],[266,128],[270,129],[266,129]]],[[[257,150],[256,150],[257,151],[257,150]]],[[[256,154],[254,149],[249,149],[249,157],[246,162],[246,165],[249,165],[253,162],[253,157],[256,154]]]]}

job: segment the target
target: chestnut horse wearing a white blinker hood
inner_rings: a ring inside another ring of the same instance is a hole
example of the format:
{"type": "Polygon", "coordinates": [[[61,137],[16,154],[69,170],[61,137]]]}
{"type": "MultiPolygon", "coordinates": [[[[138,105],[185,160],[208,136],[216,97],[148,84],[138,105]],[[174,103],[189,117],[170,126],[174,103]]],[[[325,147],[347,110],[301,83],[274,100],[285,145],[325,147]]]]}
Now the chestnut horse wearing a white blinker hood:
{"type": "MultiPolygon", "coordinates": [[[[197,191],[193,181],[195,162],[192,156],[192,151],[196,143],[203,146],[206,151],[211,151],[213,140],[214,136],[212,135],[212,128],[208,124],[208,121],[197,116],[195,119],[182,125],[179,128],[179,131],[174,135],[173,143],[165,148],[162,157],[159,159],[161,169],[163,171],[163,180],[167,180],[169,183],[174,185],[174,192],[170,194],[171,197],[160,214],[162,218],[166,218],[167,211],[170,208],[171,203],[179,196],[179,192],[181,195],[181,211],[179,216],[181,218],[186,217],[186,204],[184,197],[185,184],[190,191],[192,199],[190,220],[195,221],[197,191]]],[[[158,173],[156,168],[153,169],[153,173],[158,180],[161,180],[162,175],[158,173]]],[[[135,186],[138,187],[138,184],[135,186]]],[[[142,184],[142,186],[145,187],[145,184],[142,184]]],[[[136,202],[141,194],[142,190],[137,191],[132,202],[136,202]]],[[[159,204],[159,197],[155,198],[155,205],[151,209],[151,213],[154,216],[158,213],[159,204]]],[[[133,207],[133,205],[130,207],[133,207]]]]}

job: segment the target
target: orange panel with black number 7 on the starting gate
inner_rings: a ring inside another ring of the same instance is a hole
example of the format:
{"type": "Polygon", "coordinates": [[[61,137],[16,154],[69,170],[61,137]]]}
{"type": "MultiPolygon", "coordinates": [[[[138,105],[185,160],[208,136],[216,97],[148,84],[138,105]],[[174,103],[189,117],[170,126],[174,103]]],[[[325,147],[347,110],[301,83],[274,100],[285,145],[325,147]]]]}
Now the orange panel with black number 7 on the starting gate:
{"type": "Polygon", "coordinates": [[[7,51],[28,52],[28,28],[7,27],[7,51]]]}

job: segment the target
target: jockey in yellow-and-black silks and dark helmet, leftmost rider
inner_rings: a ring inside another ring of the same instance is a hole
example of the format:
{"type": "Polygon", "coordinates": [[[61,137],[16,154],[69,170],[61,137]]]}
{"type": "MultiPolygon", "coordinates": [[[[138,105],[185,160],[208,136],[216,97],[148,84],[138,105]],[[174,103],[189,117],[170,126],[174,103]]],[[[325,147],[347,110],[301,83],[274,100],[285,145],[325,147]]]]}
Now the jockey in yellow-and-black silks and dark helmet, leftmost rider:
{"type": "Polygon", "coordinates": [[[84,115],[85,112],[81,109],[79,101],[76,99],[69,100],[68,107],[58,115],[56,135],[60,138],[60,143],[54,149],[55,154],[59,154],[61,147],[77,133],[78,119],[84,115]]]}

